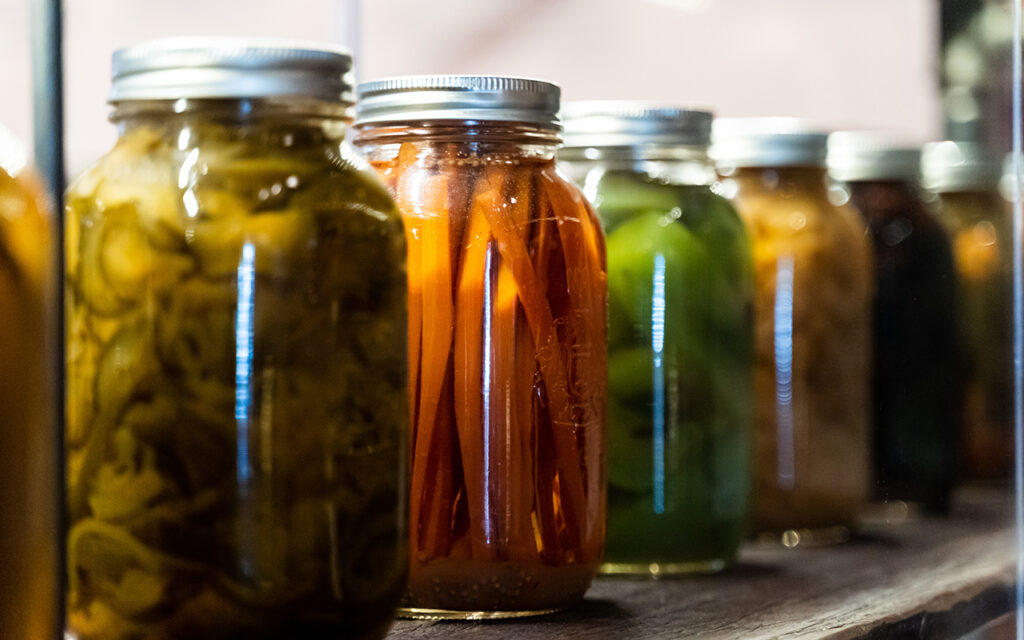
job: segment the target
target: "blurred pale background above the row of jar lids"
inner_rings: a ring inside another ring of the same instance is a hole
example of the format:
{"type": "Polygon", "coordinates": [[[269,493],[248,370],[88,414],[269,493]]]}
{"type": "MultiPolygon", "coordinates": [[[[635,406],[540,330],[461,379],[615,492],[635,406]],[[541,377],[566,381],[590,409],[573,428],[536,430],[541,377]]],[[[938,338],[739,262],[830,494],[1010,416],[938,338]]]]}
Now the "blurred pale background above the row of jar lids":
{"type": "MultiPolygon", "coordinates": [[[[114,49],[189,34],[339,42],[355,52],[359,79],[523,75],[560,83],[566,99],[799,116],[910,141],[949,131],[1001,152],[1009,1],[65,0],[69,176],[114,140],[114,49]]],[[[31,140],[28,0],[0,0],[0,122],[31,140]]]]}

